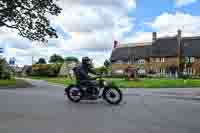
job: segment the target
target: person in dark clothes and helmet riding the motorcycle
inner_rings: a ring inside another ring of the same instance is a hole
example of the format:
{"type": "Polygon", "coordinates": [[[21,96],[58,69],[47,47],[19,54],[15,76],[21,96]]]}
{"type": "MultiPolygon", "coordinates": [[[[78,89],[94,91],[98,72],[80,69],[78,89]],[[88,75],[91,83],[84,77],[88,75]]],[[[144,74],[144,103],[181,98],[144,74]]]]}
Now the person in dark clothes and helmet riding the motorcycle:
{"type": "Polygon", "coordinates": [[[96,96],[98,89],[95,87],[97,85],[95,78],[92,78],[89,73],[93,75],[98,75],[92,69],[92,60],[89,57],[83,57],[80,66],[74,68],[76,82],[78,85],[84,86],[92,94],[91,96],[96,96]]]}

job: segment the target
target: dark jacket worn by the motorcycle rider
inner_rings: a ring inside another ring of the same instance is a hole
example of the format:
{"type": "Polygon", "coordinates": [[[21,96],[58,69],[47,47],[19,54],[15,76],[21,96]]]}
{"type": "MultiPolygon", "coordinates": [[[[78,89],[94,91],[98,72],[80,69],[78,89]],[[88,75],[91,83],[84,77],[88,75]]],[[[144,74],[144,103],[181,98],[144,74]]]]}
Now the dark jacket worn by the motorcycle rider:
{"type": "Polygon", "coordinates": [[[79,83],[81,81],[92,80],[92,77],[89,76],[89,73],[97,75],[97,73],[88,65],[80,65],[74,68],[74,73],[76,76],[76,81],[79,83]]]}

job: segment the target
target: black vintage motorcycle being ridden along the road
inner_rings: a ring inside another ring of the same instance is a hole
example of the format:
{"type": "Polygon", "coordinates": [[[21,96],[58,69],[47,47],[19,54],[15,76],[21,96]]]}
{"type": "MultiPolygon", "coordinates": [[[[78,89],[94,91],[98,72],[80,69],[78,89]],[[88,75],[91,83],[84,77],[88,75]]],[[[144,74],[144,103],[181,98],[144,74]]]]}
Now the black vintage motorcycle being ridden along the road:
{"type": "Polygon", "coordinates": [[[102,76],[96,77],[95,80],[97,81],[95,97],[92,96],[91,91],[88,91],[89,88],[78,84],[71,84],[65,88],[65,95],[75,103],[81,100],[98,100],[100,98],[113,105],[117,105],[122,101],[122,92],[113,82],[104,80],[102,76]]]}

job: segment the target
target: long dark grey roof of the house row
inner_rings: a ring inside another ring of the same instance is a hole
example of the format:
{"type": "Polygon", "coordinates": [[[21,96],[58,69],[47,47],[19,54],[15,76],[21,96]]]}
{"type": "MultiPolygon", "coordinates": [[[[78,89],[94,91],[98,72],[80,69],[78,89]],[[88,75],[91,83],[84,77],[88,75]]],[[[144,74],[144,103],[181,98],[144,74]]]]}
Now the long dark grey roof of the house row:
{"type": "MultiPolygon", "coordinates": [[[[200,36],[183,37],[181,40],[182,56],[200,57],[200,36]]],[[[177,37],[158,38],[152,45],[119,47],[113,50],[111,61],[146,57],[178,56],[177,37]]]]}

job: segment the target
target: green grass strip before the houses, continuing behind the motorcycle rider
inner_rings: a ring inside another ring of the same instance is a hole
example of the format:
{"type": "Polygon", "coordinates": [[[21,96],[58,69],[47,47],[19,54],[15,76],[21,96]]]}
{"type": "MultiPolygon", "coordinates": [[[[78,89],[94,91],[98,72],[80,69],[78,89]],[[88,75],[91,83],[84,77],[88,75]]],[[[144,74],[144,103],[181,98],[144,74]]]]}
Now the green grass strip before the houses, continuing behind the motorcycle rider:
{"type": "MultiPolygon", "coordinates": [[[[31,77],[33,79],[46,80],[51,83],[64,84],[65,86],[74,81],[67,78],[48,78],[48,77],[31,77]]],[[[199,87],[200,79],[139,79],[138,81],[125,81],[124,79],[107,79],[112,80],[120,88],[190,88],[199,87]]]]}

